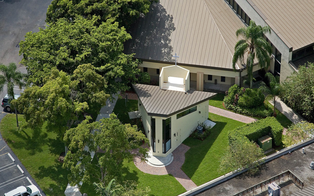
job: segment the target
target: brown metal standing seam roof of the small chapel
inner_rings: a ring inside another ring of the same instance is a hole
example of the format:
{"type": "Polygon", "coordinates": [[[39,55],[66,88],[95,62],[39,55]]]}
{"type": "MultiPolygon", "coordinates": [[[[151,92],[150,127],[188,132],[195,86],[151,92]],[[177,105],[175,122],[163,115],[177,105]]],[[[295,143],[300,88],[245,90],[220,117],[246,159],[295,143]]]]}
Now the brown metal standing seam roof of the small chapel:
{"type": "Polygon", "coordinates": [[[169,117],[216,96],[216,93],[188,90],[164,90],[159,86],[133,85],[138,98],[150,116],[169,117]]]}

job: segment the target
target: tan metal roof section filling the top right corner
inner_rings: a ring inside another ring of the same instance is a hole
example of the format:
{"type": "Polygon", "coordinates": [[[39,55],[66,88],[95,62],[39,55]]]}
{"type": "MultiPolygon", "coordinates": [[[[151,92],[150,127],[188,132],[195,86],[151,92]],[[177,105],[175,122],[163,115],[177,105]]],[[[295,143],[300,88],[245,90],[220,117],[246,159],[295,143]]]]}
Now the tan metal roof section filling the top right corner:
{"type": "Polygon", "coordinates": [[[289,48],[297,50],[314,42],[313,0],[247,0],[247,2],[289,48]]]}

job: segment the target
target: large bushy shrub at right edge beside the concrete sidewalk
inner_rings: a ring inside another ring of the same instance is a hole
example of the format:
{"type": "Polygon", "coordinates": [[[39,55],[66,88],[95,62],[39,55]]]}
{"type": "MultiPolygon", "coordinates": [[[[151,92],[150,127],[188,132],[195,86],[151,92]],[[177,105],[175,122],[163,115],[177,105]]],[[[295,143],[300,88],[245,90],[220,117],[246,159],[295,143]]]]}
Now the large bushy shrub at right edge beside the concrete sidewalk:
{"type": "Polygon", "coordinates": [[[310,122],[314,122],[313,63],[308,63],[308,67],[299,66],[298,72],[292,73],[288,79],[283,82],[280,99],[310,122]]]}

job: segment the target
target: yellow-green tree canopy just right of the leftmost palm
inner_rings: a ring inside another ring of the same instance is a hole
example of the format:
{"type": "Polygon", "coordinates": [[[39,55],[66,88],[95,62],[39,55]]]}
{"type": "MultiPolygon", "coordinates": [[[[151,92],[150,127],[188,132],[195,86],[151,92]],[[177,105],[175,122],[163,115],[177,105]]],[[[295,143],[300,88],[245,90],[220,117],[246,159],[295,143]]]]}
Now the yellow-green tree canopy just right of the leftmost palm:
{"type": "Polygon", "coordinates": [[[86,102],[72,97],[75,83],[63,71],[51,69],[42,87],[32,86],[24,90],[21,97],[12,101],[24,114],[27,126],[40,127],[45,121],[70,128],[78,116],[87,110],[86,102]]]}

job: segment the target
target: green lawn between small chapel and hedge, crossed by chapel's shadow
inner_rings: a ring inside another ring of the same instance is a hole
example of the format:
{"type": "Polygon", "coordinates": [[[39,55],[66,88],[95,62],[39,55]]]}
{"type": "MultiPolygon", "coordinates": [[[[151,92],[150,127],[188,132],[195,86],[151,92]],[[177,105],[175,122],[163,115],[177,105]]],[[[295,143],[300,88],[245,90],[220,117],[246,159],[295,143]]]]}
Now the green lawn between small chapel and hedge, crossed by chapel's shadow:
{"type": "Polygon", "coordinates": [[[183,144],[191,148],[185,153],[185,162],[181,169],[197,185],[213,180],[219,174],[219,159],[228,146],[228,132],[245,123],[209,113],[209,119],[216,125],[212,133],[203,141],[188,137],[183,144]]]}

